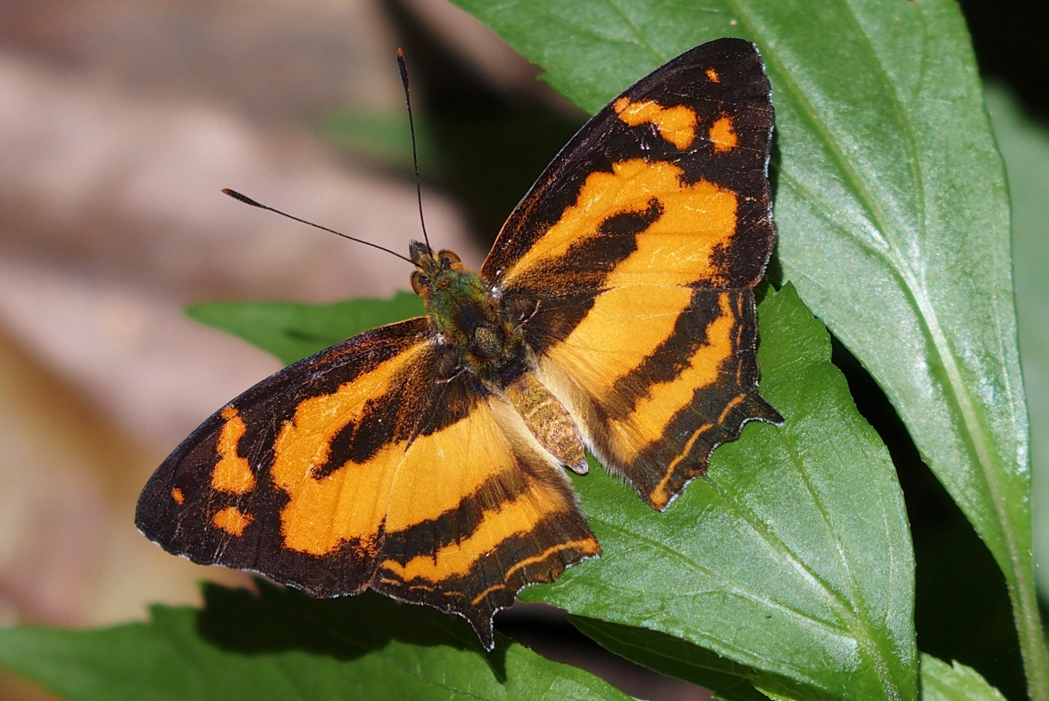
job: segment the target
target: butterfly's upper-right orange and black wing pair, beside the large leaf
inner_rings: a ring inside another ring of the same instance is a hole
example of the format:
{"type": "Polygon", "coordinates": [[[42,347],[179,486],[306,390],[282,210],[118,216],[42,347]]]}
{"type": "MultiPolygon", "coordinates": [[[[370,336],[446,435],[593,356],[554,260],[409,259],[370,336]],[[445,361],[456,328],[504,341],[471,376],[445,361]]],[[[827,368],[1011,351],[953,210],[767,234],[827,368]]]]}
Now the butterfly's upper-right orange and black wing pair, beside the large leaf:
{"type": "Polygon", "coordinates": [[[594,116],[499,234],[481,274],[591,448],[663,509],[752,419],[752,288],[775,230],[768,79],[753,44],[670,61],[594,116]]]}

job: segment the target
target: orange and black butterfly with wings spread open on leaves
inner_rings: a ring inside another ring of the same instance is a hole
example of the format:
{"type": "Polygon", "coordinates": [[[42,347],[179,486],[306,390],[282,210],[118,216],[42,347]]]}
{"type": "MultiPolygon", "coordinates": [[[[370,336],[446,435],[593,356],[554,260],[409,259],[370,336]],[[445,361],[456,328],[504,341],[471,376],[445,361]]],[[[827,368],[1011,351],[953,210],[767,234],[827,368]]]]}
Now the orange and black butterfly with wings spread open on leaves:
{"type": "Polygon", "coordinates": [[[521,587],[600,554],[564,468],[585,450],[654,508],[757,394],[752,289],[775,242],[772,105],[753,44],[673,59],[576,134],[479,274],[412,242],[426,316],[263,380],[138,500],[147,536],[313,596],[373,589],[486,647],[521,587]]]}

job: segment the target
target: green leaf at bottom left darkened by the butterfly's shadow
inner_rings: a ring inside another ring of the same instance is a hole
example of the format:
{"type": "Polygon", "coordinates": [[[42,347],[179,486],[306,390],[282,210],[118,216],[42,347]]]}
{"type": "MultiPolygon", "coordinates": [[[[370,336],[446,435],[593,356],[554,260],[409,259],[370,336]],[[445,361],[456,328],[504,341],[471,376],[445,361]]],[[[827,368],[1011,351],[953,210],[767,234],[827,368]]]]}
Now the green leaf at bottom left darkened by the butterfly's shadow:
{"type": "Polygon", "coordinates": [[[311,599],[205,586],[201,611],[94,631],[0,629],[0,664],[70,701],[616,699],[600,679],[377,594],[311,599]]]}

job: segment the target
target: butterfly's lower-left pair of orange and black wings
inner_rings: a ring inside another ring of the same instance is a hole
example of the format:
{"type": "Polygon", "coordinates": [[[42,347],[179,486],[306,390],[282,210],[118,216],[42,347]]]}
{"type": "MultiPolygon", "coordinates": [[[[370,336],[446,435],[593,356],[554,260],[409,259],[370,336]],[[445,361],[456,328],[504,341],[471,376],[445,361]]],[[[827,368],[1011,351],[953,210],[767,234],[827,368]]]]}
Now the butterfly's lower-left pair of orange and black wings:
{"type": "Polygon", "coordinates": [[[491,649],[495,611],[600,548],[520,418],[447,354],[421,317],[277,373],[160,465],[138,529],[314,596],[461,614],[491,649]]]}

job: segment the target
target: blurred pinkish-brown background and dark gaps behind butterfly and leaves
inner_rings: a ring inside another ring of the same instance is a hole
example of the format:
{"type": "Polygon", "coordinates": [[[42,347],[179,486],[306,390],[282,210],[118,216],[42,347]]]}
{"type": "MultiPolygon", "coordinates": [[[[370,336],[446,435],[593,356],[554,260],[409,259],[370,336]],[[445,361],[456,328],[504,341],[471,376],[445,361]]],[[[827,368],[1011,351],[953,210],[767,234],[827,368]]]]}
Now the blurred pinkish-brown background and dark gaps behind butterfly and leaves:
{"type": "MultiPolygon", "coordinates": [[[[1012,12],[975,0],[963,8],[1013,188],[1033,458],[1049,469],[1049,10],[1006,4],[1012,12]]],[[[279,367],[181,310],[410,289],[403,261],[219,193],[235,188],[405,251],[420,226],[398,47],[412,80],[430,237],[476,269],[585,115],[446,0],[0,3],[0,624],[126,621],[149,602],[197,602],[201,578],[243,581],[167,555],[132,523],[164,456],[279,367]]],[[[1001,576],[874,383],[843,348],[835,361],[899,446],[919,645],[1009,689],[1019,654],[996,622],[1008,607],[1001,576]],[[983,574],[942,567],[959,558],[976,558],[983,574]],[[958,636],[939,629],[922,638],[923,615],[954,612],[959,625],[987,626],[984,650],[958,650],[958,636]]],[[[1035,554],[1049,568],[1044,482],[1035,554]]],[[[552,612],[514,612],[500,624],[635,696],[708,698],[601,656],[552,612]]],[[[0,672],[0,698],[50,697],[0,672]]]]}

